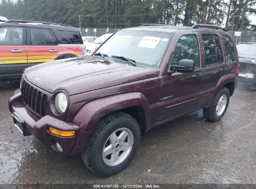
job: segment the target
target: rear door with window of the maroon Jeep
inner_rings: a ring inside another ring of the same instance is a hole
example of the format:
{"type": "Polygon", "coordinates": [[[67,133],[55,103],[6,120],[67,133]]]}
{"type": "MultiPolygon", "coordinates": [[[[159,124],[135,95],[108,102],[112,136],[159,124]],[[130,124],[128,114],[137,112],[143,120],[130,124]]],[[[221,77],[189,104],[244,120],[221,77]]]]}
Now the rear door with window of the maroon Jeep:
{"type": "Polygon", "coordinates": [[[219,34],[203,33],[202,44],[204,46],[204,70],[201,72],[203,94],[200,104],[206,105],[212,99],[215,86],[220,77],[226,74],[227,67],[224,63],[223,49],[219,34]]]}

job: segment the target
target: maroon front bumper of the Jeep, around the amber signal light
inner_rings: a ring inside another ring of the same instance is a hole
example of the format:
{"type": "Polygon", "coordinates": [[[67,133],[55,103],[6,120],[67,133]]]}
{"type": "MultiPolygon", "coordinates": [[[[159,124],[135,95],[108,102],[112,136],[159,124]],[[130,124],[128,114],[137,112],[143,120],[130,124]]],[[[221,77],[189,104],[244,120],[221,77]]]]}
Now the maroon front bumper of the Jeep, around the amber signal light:
{"type": "Polygon", "coordinates": [[[77,124],[65,122],[49,115],[38,118],[26,108],[21,100],[20,91],[16,91],[16,94],[9,100],[9,109],[11,113],[15,113],[24,121],[26,131],[36,137],[42,144],[59,152],[56,147],[56,142],[58,142],[63,149],[63,154],[69,155],[72,152],[79,131],[77,124]],[[49,126],[62,131],[75,131],[75,136],[55,136],[48,131],[49,126]]]}

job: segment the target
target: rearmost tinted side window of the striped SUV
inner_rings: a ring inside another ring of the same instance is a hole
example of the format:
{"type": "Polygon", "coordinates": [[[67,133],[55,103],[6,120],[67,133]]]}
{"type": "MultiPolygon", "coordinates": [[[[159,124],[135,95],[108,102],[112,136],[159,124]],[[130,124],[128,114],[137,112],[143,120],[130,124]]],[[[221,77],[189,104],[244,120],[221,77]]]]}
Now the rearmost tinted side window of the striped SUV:
{"type": "Polygon", "coordinates": [[[79,32],[52,30],[59,44],[83,44],[79,32]]]}

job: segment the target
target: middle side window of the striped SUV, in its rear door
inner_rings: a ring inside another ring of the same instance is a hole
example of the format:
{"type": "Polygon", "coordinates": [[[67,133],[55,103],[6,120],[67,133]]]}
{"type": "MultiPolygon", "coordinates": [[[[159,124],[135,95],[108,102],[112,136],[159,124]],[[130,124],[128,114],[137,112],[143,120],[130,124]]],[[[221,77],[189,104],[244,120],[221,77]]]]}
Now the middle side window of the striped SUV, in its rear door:
{"type": "Polygon", "coordinates": [[[31,45],[54,45],[54,36],[48,29],[31,28],[31,45]]]}

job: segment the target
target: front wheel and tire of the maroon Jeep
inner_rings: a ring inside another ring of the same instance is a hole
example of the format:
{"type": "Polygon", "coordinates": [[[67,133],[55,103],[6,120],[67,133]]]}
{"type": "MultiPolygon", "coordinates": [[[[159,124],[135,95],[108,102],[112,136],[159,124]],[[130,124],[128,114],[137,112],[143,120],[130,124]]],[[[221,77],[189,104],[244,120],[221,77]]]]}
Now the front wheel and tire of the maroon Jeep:
{"type": "Polygon", "coordinates": [[[128,166],[138,149],[140,138],[140,126],[134,118],[121,112],[111,114],[104,118],[93,132],[87,147],[81,154],[82,160],[92,172],[101,177],[110,177],[128,166]],[[117,143],[115,143],[116,140],[113,140],[115,137],[110,138],[110,136],[120,137],[122,133],[128,134],[123,141],[117,138],[117,143]],[[132,137],[133,140],[131,140],[132,137]],[[133,142],[131,143],[131,141],[133,142]],[[128,144],[130,144],[130,148],[123,151],[122,149],[128,144]],[[106,150],[106,154],[112,150],[112,154],[103,155],[103,149],[106,150]],[[116,152],[116,150],[119,151],[116,152]],[[118,157],[116,154],[120,156],[118,157]],[[114,161],[113,159],[116,158],[120,159],[114,161]]]}

